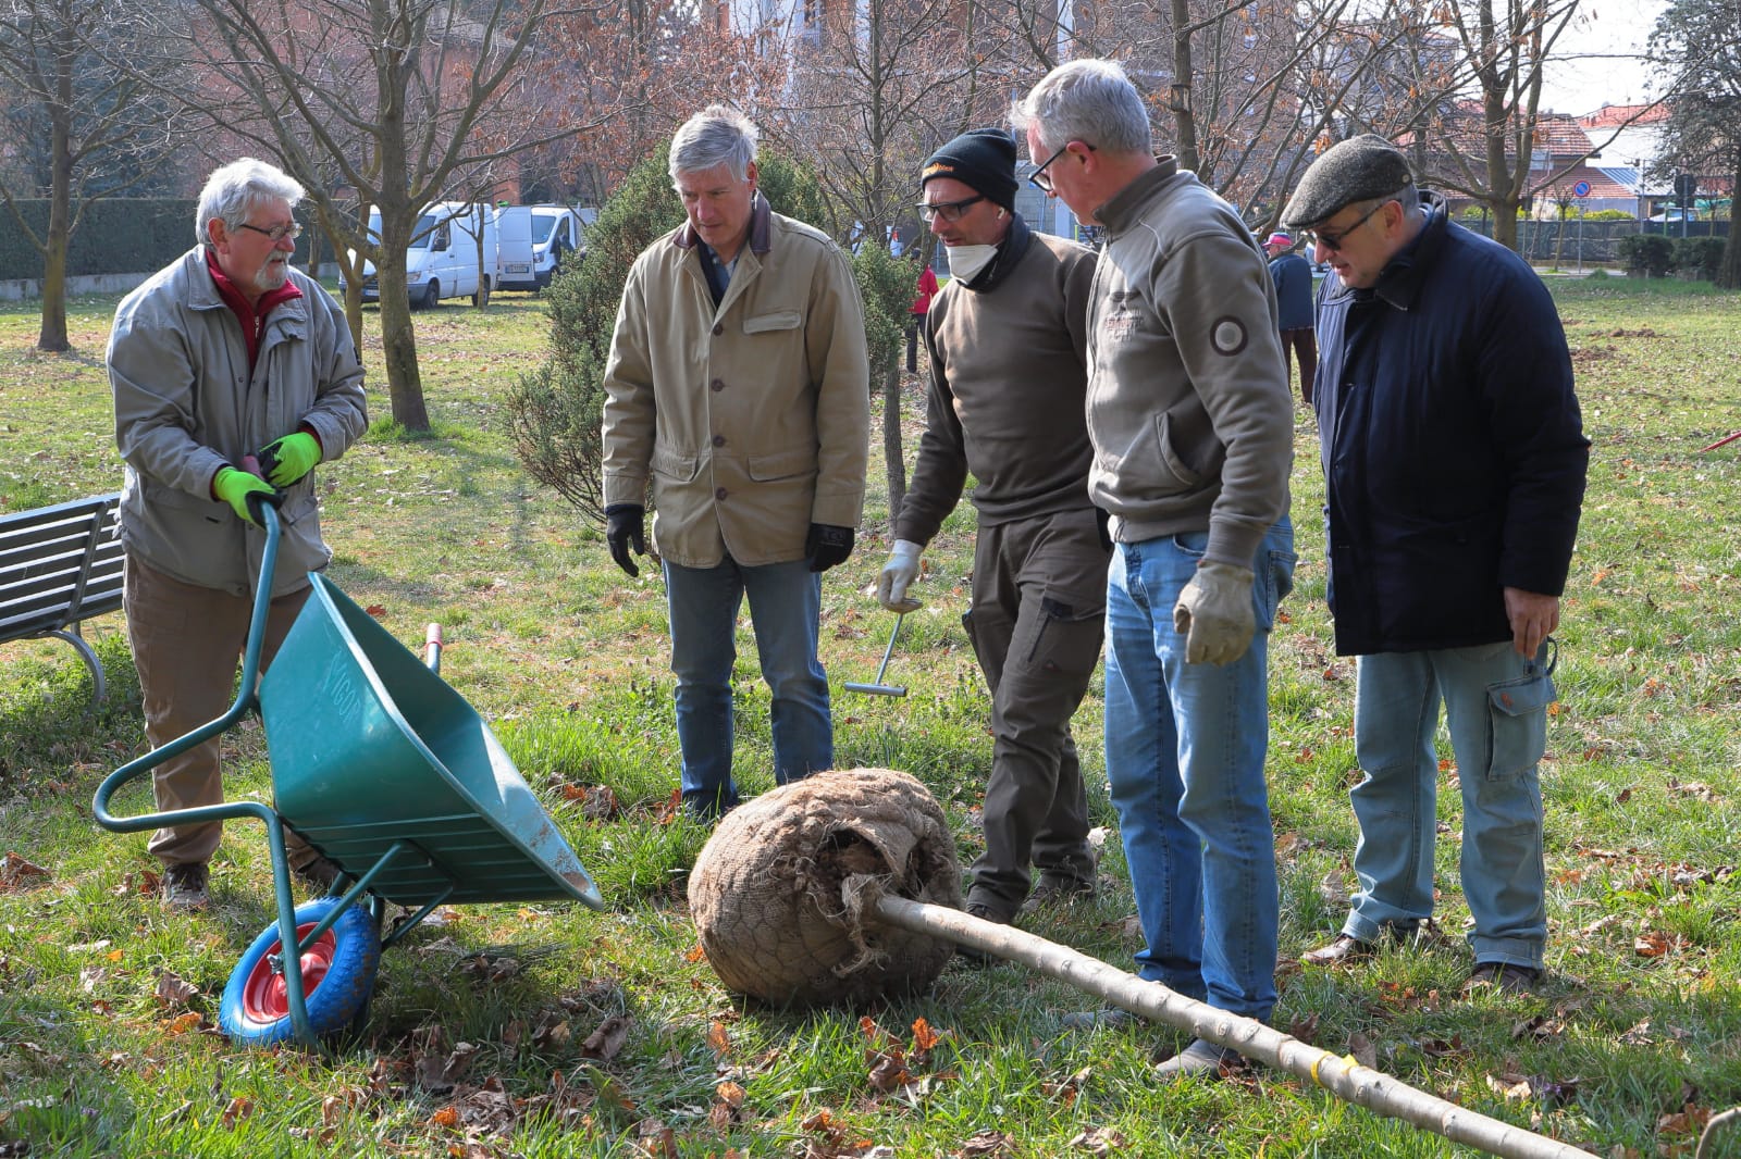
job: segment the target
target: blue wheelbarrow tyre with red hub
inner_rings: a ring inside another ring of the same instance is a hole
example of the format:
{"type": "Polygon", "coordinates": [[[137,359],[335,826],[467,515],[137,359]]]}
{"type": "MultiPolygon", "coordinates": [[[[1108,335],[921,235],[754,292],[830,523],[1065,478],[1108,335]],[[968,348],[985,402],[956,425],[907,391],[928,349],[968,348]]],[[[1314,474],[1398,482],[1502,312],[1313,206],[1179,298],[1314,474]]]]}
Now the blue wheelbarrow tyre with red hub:
{"type": "MultiPolygon", "coordinates": [[[[296,907],[296,936],[306,938],[339,898],[317,898],[296,907]]],[[[230,975],[218,1009],[218,1025],[237,1042],[272,1046],[296,1037],[284,975],[272,968],[280,954],[279,924],[254,938],[230,975]]],[[[303,1004],[319,1037],[345,1030],[367,1004],[381,964],[381,931],[367,908],[353,905],[301,957],[303,1004]]]]}

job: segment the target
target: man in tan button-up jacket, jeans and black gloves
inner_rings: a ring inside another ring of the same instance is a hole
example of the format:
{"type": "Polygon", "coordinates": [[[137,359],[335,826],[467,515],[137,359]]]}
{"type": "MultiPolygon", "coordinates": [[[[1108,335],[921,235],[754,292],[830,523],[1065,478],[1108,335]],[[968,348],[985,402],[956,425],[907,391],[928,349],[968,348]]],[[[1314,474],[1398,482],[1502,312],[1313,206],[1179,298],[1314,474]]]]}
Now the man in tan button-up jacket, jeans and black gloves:
{"type": "Polygon", "coordinates": [[[731,665],[743,597],[771,691],[775,780],[834,764],[820,573],[864,512],[864,310],[827,235],[756,190],[756,125],[714,104],[670,144],[688,221],[629,271],[604,372],[611,557],[639,574],[646,494],[665,573],[682,799],[736,804],[731,665]]]}

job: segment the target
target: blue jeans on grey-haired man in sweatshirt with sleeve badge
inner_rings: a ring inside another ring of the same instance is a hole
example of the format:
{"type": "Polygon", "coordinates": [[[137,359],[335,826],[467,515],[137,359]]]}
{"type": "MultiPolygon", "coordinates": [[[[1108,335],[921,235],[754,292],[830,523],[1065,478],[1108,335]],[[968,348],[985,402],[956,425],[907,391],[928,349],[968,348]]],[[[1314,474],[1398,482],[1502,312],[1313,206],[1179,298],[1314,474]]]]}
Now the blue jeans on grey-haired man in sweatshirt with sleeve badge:
{"type": "Polygon", "coordinates": [[[1294,586],[1294,526],[1254,559],[1257,633],[1226,667],[1186,663],[1173,604],[1207,533],[1121,543],[1106,599],[1106,774],[1137,917],[1139,973],[1217,1009],[1269,1018],[1276,1002],[1267,644],[1294,586]]]}

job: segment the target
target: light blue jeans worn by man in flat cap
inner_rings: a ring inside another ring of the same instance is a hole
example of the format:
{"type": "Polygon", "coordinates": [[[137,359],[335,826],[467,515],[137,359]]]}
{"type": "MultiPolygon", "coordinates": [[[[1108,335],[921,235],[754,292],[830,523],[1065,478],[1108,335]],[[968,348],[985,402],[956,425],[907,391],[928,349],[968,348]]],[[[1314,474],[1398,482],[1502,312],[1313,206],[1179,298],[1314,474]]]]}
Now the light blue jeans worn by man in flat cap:
{"type": "Polygon", "coordinates": [[[1342,933],[1374,941],[1386,922],[1433,914],[1433,834],[1438,820],[1438,707],[1462,785],[1462,894],[1475,917],[1476,962],[1541,969],[1548,940],[1541,783],[1548,712],[1511,717],[1490,684],[1523,675],[1511,640],[1360,658],[1354,752],[1365,778],[1349,792],[1360,821],[1360,891],[1342,933]]]}

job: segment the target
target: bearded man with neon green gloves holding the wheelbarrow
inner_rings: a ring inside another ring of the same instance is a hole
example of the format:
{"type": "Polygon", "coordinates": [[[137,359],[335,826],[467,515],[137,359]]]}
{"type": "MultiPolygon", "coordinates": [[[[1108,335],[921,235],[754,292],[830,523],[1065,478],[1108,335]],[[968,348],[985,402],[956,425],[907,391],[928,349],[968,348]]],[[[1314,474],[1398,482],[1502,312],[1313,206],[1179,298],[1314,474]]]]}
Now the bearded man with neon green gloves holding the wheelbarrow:
{"type": "MultiPolygon", "coordinates": [[[[200,244],[115,312],[108,371],[127,463],[124,606],[153,747],[230,703],[265,545],[249,496],[282,491],[265,665],[308,597],[308,573],[331,559],[313,466],[343,454],[367,425],[345,315],[289,266],[301,197],[301,184],[265,162],[218,169],[200,193],[200,244]],[[265,479],[240,470],[247,456],[265,479]]],[[[219,804],[218,740],[158,766],[153,788],[158,811],[219,804]]],[[[151,837],[172,907],[207,905],[219,835],[221,823],[207,821],[151,837]]],[[[317,851],[287,839],[294,868],[331,874],[317,851]]]]}

